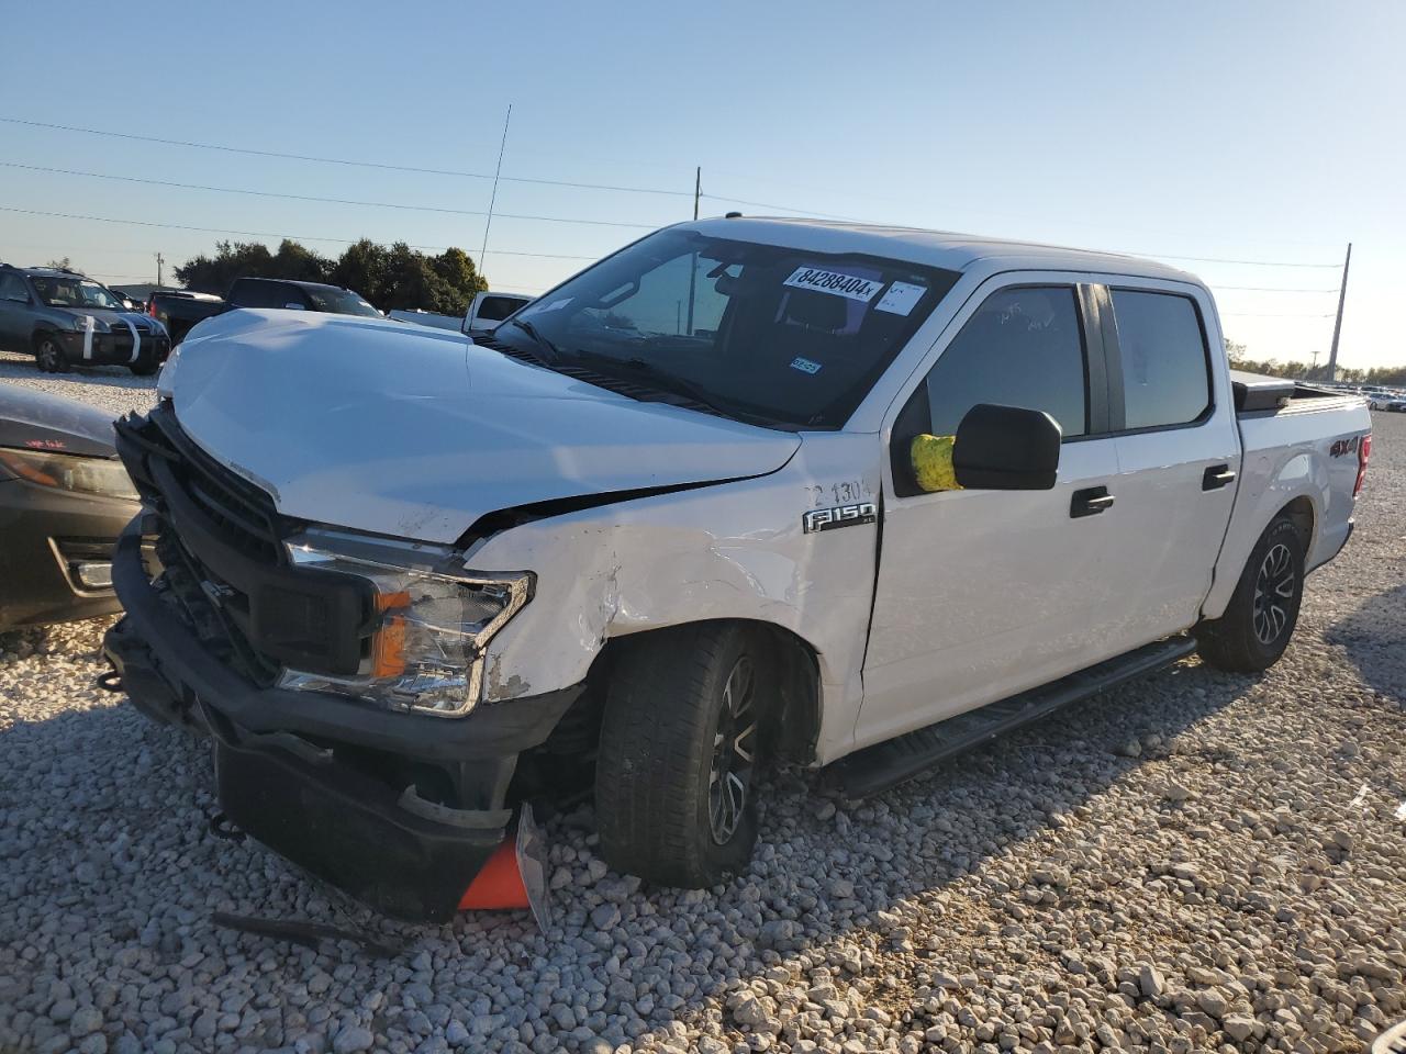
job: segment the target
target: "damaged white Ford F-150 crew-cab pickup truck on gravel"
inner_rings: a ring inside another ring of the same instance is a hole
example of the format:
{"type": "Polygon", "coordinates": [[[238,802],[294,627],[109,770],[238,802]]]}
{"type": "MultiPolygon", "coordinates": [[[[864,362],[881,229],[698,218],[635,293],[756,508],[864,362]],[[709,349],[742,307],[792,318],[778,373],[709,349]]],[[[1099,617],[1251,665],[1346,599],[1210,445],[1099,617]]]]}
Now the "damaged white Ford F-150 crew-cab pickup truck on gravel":
{"type": "Polygon", "coordinates": [[[1279,658],[1371,422],[1222,349],[1156,263],[744,218],[478,344],[224,315],[118,423],[107,655],[212,735],[236,825],[389,913],[449,918],[571,780],[613,866],[713,885],[761,766],[863,794],[1197,649],[1279,658]]]}

